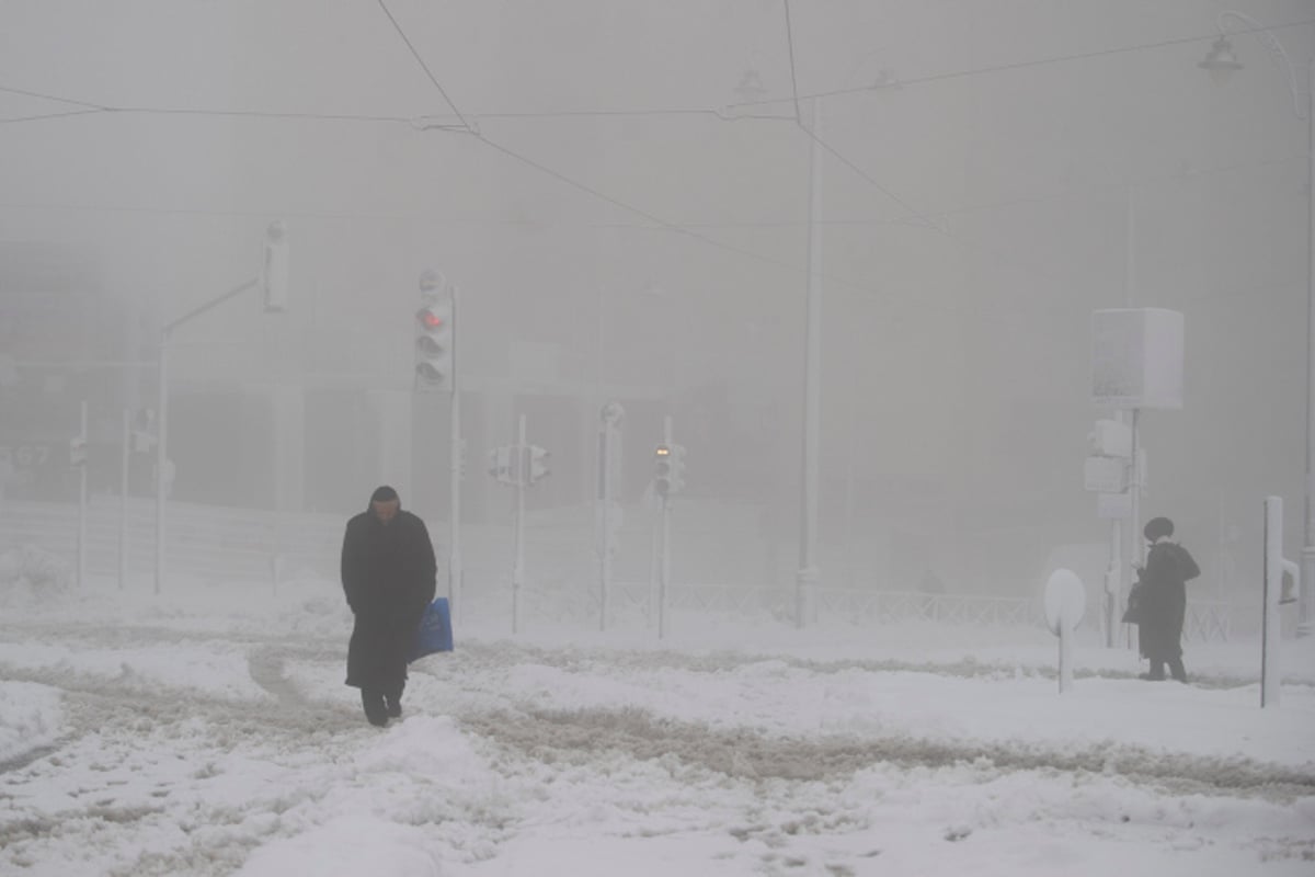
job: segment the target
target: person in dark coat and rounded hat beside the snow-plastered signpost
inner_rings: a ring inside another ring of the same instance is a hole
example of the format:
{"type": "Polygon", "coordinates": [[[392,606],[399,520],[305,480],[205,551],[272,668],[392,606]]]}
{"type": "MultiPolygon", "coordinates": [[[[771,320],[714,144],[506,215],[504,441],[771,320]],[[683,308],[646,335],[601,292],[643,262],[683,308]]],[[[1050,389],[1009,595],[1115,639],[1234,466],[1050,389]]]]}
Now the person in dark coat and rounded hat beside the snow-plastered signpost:
{"type": "Polygon", "coordinates": [[[1151,660],[1151,672],[1144,678],[1162,680],[1164,665],[1180,682],[1187,681],[1182,667],[1182,621],[1187,613],[1186,582],[1201,575],[1201,567],[1176,542],[1173,521],[1152,518],[1141,530],[1151,543],[1147,565],[1141,571],[1140,619],[1137,646],[1151,660]]]}

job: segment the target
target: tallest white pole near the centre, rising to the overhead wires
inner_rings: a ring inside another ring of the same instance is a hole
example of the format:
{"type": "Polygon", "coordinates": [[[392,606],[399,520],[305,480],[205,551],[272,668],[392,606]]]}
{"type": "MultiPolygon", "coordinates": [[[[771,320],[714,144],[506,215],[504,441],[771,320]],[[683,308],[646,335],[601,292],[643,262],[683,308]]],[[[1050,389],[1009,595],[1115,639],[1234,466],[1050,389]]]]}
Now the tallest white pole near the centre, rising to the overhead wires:
{"type": "Polygon", "coordinates": [[[803,343],[803,489],[800,514],[800,569],[796,573],[794,622],[813,621],[817,585],[818,451],[822,421],[822,162],[815,138],[822,137],[822,101],[813,99],[809,145],[809,281],[807,329],[803,343]]]}

